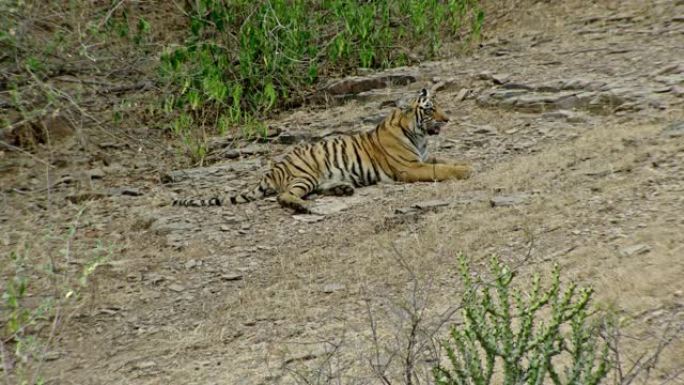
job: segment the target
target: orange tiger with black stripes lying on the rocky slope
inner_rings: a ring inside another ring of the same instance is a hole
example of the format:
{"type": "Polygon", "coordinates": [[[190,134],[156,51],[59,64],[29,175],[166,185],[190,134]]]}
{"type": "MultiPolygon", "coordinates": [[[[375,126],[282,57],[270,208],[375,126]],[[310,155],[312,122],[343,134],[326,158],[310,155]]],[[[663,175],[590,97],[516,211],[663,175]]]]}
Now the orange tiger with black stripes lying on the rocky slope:
{"type": "MultiPolygon", "coordinates": [[[[378,182],[427,182],[465,179],[467,164],[447,164],[428,156],[426,135],[437,135],[449,118],[430,92],[420,90],[407,108],[395,109],[375,129],[325,138],[296,146],[274,163],[255,188],[230,197],[232,204],[278,194],[278,203],[299,213],[311,213],[305,201],[312,192],[352,195],[355,187],[378,182]]],[[[212,199],[178,199],[173,205],[220,206],[212,199]]]]}

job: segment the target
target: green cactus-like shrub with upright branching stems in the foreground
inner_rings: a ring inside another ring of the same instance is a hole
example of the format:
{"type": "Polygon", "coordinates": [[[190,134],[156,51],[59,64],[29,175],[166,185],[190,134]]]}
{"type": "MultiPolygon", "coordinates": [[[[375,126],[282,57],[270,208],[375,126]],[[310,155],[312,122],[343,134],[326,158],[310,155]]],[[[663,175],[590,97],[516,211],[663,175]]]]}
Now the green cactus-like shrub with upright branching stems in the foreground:
{"type": "Polygon", "coordinates": [[[501,383],[555,385],[599,384],[609,370],[609,347],[588,320],[591,289],[560,288],[559,269],[543,289],[535,275],[529,292],[511,288],[514,273],[491,260],[492,282],[473,279],[465,257],[460,272],[465,286],[464,324],[451,329],[443,343],[449,368],[433,370],[438,385],[489,385],[495,368],[501,383]]]}

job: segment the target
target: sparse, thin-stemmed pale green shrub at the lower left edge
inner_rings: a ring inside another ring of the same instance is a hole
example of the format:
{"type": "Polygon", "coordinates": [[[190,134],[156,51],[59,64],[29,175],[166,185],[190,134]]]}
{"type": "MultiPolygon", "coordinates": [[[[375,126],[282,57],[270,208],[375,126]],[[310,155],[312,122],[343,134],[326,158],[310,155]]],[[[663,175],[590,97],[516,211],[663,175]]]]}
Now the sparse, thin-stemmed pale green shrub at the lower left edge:
{"type": "Polygon", "coordinates": [[[77,226],[78,217],[66,235],[54,239],[63,245],[59,256],[28,245],[0,255],[0,378],[5,383],[44,383],[42,368],[59,333],[113,252],[113,246],[99,242],[77,251],[77,226]],[[80,261],[78,269],[70,266],[74,260],[80,261]]]}

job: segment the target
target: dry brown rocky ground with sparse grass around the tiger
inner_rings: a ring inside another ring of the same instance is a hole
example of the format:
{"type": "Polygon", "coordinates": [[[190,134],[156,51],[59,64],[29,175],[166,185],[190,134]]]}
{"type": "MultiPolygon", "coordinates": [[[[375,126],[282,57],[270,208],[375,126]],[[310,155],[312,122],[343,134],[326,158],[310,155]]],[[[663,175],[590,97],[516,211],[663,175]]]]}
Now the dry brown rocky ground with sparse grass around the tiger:
{"type": "MultiPolygon", "coordinates": [[[[472,55],[333,82],[325,107],[270,122],[269,140],[215,141],[207,167],[175,169],[107,135],[49,158],[2,153],[3,253],[57,247],[35,229],[63,234],[80,210],[70,262],[111,245],[48,383],[380,383],[411,309],[427,334],[458,321],[464,252],[476,268],[499,254],[523,281],[558,263],[592,285],[623,322],[625,371],[679,333],[639,381],[684,384],[684,3],[511,14],[472,55]],[[169,206],[246,188],[292,143],[371,128],[424,86],[452,118],[431,150],[471,162],[470,180],[313,197],[325,215],[274,199],[169,206]],[[82,161],[67,155],[84,147],[82,161]]],[[[422,374],[434,364],[416,357],[422,374]]]]}

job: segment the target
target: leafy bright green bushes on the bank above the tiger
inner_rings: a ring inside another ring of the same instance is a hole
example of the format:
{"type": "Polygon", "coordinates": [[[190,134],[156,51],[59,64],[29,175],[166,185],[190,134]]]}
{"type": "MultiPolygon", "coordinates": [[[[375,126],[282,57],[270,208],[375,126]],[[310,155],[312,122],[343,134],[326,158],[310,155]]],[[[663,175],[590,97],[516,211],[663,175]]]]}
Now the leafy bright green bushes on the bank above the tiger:
{"type": "Polygon", "coordinates": [[[321,77],[433,57],[444,37],[479,36],[484,18],[477,0],[189,3],[189,36],[163,53],[159,75],[165,112],[183,121],[171,126],[203,134],[263,128],[255,118],[301,99],[321,77]]]}

